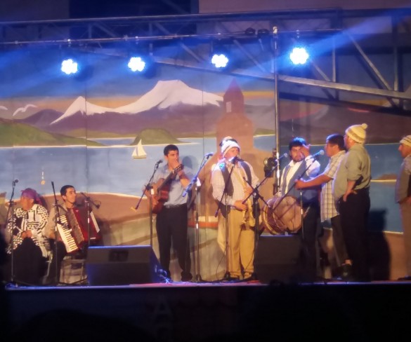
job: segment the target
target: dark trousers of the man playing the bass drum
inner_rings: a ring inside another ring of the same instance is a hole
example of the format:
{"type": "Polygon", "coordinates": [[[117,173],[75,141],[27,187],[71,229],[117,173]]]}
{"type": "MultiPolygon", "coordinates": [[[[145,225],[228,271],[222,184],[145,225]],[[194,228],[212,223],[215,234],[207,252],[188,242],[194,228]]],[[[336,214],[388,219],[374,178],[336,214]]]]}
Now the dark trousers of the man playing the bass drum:
{"type": "MultiPolygon", "coordinates": [[[[308,205],[307,205],[308,207],[308,205]]],[[[307,207],[304,205],[304,212],[307,207]]],[[[306,280],[315,280],[318,261],[320,205],[311,203],[299,231],[302,240],[302,267],[306,280]]]]}

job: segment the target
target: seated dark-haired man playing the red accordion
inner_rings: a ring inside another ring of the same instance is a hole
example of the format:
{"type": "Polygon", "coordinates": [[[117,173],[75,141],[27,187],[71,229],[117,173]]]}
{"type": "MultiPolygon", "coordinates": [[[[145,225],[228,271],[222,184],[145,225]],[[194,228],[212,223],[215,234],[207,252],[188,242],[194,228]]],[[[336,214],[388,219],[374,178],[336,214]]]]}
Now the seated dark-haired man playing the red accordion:
{"type": "Polygon", "coordinates": [[[48,273],[48,282],[50,283],[53,283],[55,282],[55,280],[60,279],[61,262],[67,255],[67,249],[60,237],[58,237],[57,246],[54,245],[56,243],[56,222],[60,222],[60,220],[58,220],[58,215],[60,215],[60,217],[65,217],[65,219],[67,219],[67,225],[72,229],[72,235],[74,236],[74,240],[79,245],[79,247],[81,247],[81,250],[79,252],[85,252],[86,250],[86,240],[84,238],[84,234],[81,231],[81,228],[84,228],[81,226],[84,226],[86,222],[79,222],[79,219],[77,219],[76,216],[76,211],[78,212],[79,210],[79,207],[77,206],[76,189],[74,188],[74,186],[67,184],[65,186],[62,186],[62,188],[60,189],[60,195],[61,198],[63,198],[63,204],[58,205],[58,210],[56,209],[56,207],[51,208],[50,214],[48,216],[48,223],[46,226],[46,235],[52,241],[51,249],[53,254],[53,257],[51,259],[50,271],[48,273]]]}

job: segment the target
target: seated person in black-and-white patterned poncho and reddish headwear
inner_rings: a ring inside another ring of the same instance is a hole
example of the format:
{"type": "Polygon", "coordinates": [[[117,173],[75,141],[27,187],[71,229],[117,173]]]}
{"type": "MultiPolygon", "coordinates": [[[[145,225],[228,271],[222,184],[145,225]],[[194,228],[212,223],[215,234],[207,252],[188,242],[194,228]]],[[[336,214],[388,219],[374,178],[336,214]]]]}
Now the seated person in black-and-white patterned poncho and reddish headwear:
{"type": "Polygon", "coordinates": [[[50,247],[45,235],[48,212],[39,203],[39,196],[34,189],[23,190],[21,207],[13,210],[13,216],[8,221],[6,280],[23,285],[41,285],[50,247]]]}

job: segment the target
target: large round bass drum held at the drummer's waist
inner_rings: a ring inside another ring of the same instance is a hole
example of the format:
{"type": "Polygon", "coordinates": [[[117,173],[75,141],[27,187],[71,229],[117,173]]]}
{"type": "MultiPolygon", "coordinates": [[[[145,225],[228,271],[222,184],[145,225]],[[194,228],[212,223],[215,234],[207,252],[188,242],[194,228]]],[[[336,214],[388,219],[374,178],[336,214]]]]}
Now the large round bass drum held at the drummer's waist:
{"type": "Polygon", "coordinates": [[[301,206],[292,196],[273,197],[261,213],[263,224],[273,234],[296,233],[301,228],[301,206]]]}

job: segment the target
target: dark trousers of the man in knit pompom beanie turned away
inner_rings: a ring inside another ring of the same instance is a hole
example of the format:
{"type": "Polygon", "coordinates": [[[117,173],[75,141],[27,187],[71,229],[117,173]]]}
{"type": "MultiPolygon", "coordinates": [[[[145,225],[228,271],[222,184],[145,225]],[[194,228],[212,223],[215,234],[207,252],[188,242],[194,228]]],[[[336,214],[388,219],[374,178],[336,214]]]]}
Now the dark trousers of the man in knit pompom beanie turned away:
{"type": "Polygon", "coordinates": [[[349,259],[353,261],[355,280],[370,280],[368,261],[367,221],[370,212],[370,194],[368,189],[356,190],[346,202],[339,200],[341,227],[349,259]]]}

